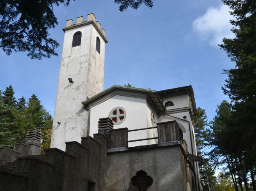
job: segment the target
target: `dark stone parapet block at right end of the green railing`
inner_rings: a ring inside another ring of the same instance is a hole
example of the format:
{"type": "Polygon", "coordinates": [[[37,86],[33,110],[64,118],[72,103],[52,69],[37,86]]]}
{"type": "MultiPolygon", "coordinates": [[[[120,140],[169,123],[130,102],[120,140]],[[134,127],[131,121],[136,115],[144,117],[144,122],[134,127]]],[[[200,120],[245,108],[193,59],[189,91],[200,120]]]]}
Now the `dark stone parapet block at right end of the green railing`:
{"type": "Polygon", "coordinates": [[[157,123],[158,143],[179,141],[179,126],[176,121],[157,123]]]}

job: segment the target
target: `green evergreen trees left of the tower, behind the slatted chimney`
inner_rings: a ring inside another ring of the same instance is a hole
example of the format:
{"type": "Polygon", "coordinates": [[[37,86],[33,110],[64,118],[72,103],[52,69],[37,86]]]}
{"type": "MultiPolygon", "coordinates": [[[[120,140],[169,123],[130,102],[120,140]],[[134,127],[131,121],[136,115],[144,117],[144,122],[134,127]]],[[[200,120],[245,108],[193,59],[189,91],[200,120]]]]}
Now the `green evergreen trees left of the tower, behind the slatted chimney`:
{"type": "Polygon", "coordinates": [[[28,129],[37,128],[42,131],[42,150],[49,148],[52,116],[34,94],[28,102],[24,96],[19,98],[17,103],[6,102],[6,100],[13,100],[10,98],[14,97],[14,91],[10,87],[6,87],[5,94],[0,97],[0,146],[24,141],[28,129]]]}

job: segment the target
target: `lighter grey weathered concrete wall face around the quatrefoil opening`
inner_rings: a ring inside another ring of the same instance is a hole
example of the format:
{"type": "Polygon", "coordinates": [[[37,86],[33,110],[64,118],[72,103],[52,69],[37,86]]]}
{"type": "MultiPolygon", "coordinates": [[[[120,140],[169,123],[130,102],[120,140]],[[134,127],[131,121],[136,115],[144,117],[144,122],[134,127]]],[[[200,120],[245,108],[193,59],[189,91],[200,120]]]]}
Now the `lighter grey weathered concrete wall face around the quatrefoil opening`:
{"type": "Polygon", "coordinates": [[[179,151],[175,146],[108,154],[106,190],[136,191],[130,180],[139,170],[153,178],[147,191],[186,190],[179,151]]]}

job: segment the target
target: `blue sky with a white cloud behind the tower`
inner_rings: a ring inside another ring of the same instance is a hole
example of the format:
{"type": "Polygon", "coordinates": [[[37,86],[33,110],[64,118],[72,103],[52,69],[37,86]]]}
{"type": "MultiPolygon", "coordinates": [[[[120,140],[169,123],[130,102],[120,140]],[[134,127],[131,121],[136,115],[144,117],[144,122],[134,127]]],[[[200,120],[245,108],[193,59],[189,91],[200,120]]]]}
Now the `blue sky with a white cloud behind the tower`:
{"type": "MultiPolygon", "coordinates": [[[[192,85],[197,106],[212,120],[221,90],[222,69],[234,67],[217,43],[232,37],[228,8],[221,0],[156,0],[152,9],[118,11],[114,0],[76,0],[54,7],[58,26],[50,37],[58,57],[31,60],[26,53],[0,50],[0,90],[12,85],[16,98],[34,93],[53,115],[66,20],[94,13],[106,30],[104,89],[131,83],[155,90],[192,85]]],[[[82,100],[81,100],[82,101],[82,100]]]]}

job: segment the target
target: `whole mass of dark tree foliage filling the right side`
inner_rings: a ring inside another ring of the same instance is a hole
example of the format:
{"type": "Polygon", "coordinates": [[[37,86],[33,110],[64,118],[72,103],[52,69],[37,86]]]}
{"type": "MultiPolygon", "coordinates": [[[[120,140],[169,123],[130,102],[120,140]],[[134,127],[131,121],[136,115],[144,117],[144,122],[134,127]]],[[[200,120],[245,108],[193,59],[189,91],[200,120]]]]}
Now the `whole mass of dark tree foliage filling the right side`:
{"type": "Polygon", "coordinates": [[[256,191],[256,3],[254,0],[223,0],[234,19],[233,39],[220,48],[236,65],[225,69],[222,87],[231,102],[223,101],[211,122],[210,153],[215,166],[225,165],[234,189],[256,191]]]}

